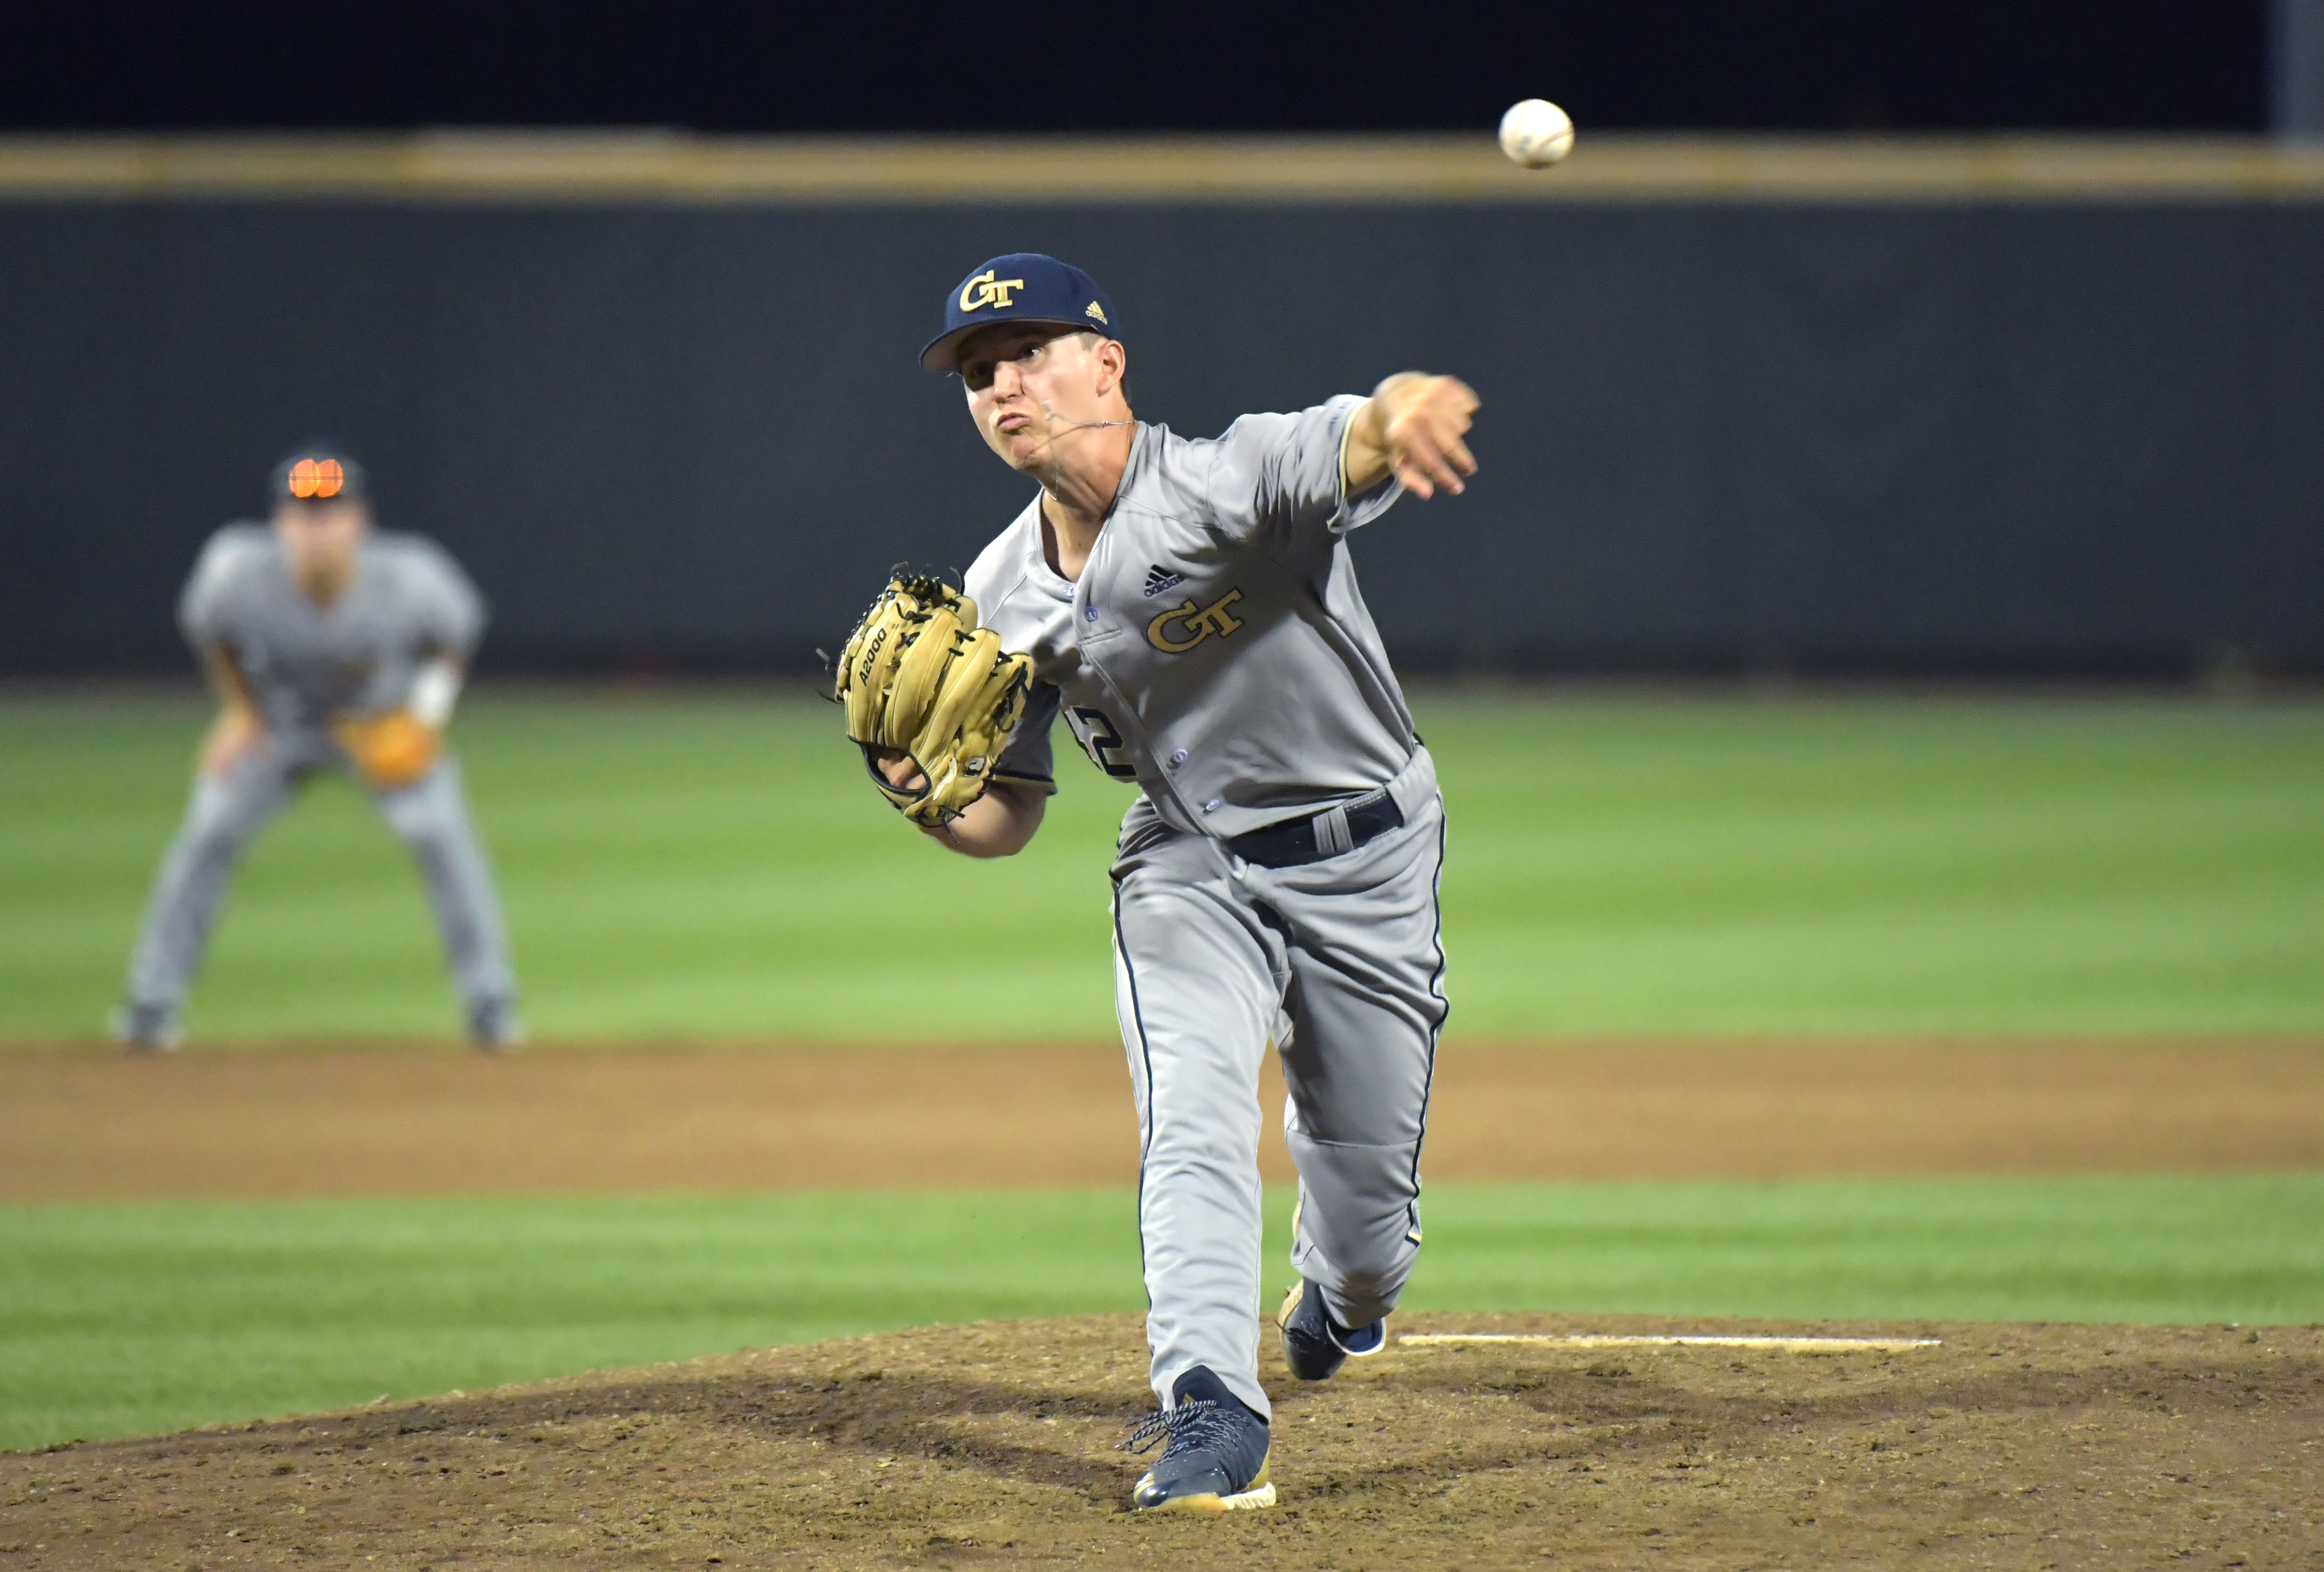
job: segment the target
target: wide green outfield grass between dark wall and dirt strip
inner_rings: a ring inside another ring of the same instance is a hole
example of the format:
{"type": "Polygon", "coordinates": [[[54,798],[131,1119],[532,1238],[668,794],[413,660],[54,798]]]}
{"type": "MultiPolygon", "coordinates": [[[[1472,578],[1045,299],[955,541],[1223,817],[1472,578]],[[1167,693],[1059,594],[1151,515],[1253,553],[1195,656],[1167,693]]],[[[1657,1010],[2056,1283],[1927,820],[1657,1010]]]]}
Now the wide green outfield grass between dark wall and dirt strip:
{"type": "MultiPolygon", "coordinates": [[[[1455,1035],[2324,1030],[2324,705],[1422,693],[1455,1035]]],[[[202,709],[0,702],[0,1042],[119,993],[202,709]]],[[[1062,733],[1060,733],[1062,735],[1062,733]]],[[[460,751],[548,1039],[1106,1039],[1078,758],[1034,846],[902,830],[804,693],[495,695],[460,751]],[[981,912],[913,967],[902,912],[981,912]]],[[[258,842],[195,1037],[449,1035],[418,881],[321,781],[258,842]]]]}

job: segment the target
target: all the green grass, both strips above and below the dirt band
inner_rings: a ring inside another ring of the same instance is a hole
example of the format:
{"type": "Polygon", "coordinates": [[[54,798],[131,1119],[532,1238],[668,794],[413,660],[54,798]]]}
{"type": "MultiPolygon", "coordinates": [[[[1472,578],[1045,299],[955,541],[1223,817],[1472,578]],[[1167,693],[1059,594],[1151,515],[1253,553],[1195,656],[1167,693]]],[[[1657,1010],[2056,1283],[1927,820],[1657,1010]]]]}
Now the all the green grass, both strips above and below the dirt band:
{"type": "MultiPolygon", "coordinates": [[[[2324,1035],[2324,705],[1415,707],[1455,1035],[2324,1035]]],[[[0,1044],[98,1032],[202,719],[0,700],[0,1044]]],[[[1125,795],[1074,758],[1034,849],[967,865],[795,691],[486,688],[458,742],[541,1037],[1113,1030],[1125,795]],[[930,912],[981,921],[892,965],[930,912]]],[[[453,1023],[400,849],[318,784],[242,870],[195,1046],[453,1023]]],[[[2317,1321],[2319,1242],[2324,1174],[1443,1186],[1408,1305],[2317,1321]]],[[[1139,1302],[1116,1193],[0,1207],[0,1446],[1139,1302]]]]}

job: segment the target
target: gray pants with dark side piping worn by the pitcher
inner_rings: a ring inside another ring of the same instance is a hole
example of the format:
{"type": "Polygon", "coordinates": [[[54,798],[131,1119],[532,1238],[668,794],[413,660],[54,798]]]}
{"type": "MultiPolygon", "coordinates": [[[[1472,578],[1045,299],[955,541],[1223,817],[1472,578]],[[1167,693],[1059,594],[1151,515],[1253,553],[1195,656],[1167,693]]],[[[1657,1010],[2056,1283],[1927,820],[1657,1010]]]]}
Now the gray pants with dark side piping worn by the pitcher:
{"type": "Polygon", "coordinates": [[[1446,1019],[1443,802],[1422,751],[1404,828],[1260,867],[1141,798],[1113,865],[1113,998],[1139,1105],[1153,1388],[1192,1365],[1260,1414],[1260,1063],[1299,1167],[1292,1267],[1341,1326],[1385,1316],[1420,1253],[1420,1137],[1446,1019]]]}

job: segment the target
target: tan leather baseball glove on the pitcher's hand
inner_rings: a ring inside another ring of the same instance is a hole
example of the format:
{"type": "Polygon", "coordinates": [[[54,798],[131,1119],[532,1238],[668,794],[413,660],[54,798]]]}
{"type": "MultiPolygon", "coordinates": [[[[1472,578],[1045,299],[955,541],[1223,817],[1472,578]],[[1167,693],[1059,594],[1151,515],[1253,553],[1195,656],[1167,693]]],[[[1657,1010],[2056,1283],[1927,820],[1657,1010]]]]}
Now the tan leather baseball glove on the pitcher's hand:
{"type": "Polygon", "coordinates": [[[839,656],[832,698],[871,784],[906,819],[937,828],[985,795],[1002,744],[1025,716],[1032,658],[976,626],[976,602],[937,579],[895,579],[839,656]],[[918,765],[913,786],[881,774],[883,751],[918,765]]]}

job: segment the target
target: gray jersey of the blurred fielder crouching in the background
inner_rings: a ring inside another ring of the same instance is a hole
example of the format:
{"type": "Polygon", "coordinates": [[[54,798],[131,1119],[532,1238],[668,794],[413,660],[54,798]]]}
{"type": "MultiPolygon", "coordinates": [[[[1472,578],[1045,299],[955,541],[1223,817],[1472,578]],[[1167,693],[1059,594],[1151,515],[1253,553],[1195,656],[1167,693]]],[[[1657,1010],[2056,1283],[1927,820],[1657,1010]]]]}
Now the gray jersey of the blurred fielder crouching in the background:
{"type": "Polygon", "coordinates": [[[346,593],[318,607],[274,530],[230,523],[202,549],[179,626],[195,649],[232,649],[270,730],[321,733],[339,712],[409,700],[435,656],[467,660],[483,600],[432,540],[372,530],[346,593]]]}

